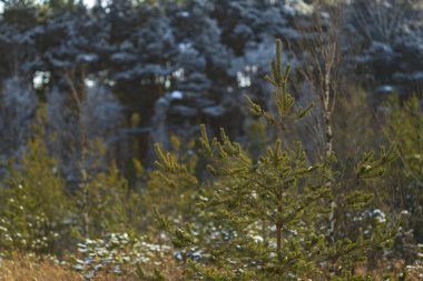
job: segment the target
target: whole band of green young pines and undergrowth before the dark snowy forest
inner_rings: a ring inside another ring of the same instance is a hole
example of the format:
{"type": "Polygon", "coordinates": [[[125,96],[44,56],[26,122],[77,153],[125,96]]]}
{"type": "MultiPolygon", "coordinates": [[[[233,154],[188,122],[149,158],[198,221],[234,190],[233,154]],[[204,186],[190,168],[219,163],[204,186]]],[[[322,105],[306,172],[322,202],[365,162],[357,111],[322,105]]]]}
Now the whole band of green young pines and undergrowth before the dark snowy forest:
{"type": "Polygon", "coordinates": [[[224,129],[209,137],[201,126],[198,141],[173,137],[169,151],[157,143],[156,169],[135,159],[136,184],[114,162],[100,168],[97,142],[82,154],[90,159],[80,167],[83,181],[69,190],[40,108],[22,157],[9,160],[1,181],[2,277],[37,267],[63,280],[420,278],[420,100],[392,100],[377,116],[362,101],[341,100],[348,110],[334,114],[334,147],[343,153],[331,148],[312,160],[295,127],[316,104],[297,106],[289,70],[277,41],[265,77],[273,102],[264,108],[245,96],[255,117],[248,142],[233,142],[224,129]],[[377,122],[346,130],[367,122],[351,111],[377,122]]]}

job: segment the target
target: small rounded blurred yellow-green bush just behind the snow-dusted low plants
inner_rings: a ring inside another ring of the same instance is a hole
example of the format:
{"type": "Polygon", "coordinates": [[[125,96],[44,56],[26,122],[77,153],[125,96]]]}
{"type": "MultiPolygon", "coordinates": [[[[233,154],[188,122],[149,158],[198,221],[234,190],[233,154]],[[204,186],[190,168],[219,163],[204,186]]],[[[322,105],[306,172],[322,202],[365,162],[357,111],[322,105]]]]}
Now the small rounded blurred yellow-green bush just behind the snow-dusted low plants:
{"type": "Polygon", "coordinates": [[[128,185],[116,165],[95,173],[81,182],[76,194],[79,235],[100,238],[108,232],[128,232],[139,229],[140,195],[128,185]]]}

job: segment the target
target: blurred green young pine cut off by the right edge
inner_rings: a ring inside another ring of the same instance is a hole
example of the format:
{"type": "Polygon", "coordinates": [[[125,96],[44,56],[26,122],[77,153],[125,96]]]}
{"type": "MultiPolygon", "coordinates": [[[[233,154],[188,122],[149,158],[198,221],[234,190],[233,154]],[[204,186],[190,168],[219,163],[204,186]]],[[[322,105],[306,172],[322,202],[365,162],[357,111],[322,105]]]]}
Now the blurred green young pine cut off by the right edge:
{"type": "Polygon", "coordinates": [[[419,250],[413,244],[423,241],[423,112],[419,96],[404,101],[401,108],[399,103],[387,103],[391,113],[384,127],[385,134],[395,144],[399,155],[387,181],[397,179],[397,184],[391,190],[395,194],[391,203],[407,213],[407,223],[400,233],[397,248],[404,258],[414,260],[419,250]]]}

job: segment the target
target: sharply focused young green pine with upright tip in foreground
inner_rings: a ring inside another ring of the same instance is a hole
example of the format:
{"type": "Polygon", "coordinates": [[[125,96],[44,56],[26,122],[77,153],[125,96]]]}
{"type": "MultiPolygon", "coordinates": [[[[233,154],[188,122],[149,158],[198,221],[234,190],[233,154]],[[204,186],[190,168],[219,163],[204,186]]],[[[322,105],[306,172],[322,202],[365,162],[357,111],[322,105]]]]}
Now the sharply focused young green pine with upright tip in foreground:
{"type": "MultiPolygon", "coordinates": [[[[265,77],[274,87],[274,109],[265,110],[246,97],[250,113],[272,128],[273,143],[257,160],[230,141],[223,129],[219,139],[210,140],[203,126],[199,142],[213,178],[200,182],[175,157],[156,147],[156,165],[164,184],[201,190],[197,225],[193,221],[186,227],[174,225],[156,210],[176,247],[198,247],[201,251],[199,262],[193,262],[187,271],[188,279],[351,279],[355,264],[366,259],[366,251],[384,248],[391,239],[391,229],[383,223],[374,223],[366,235],[360,231],[351,235],[341,229],[334,240],[327,235],[331,202],[342,205],[350,217],[346,220],[352,221],[373,197],[360,188],[334,194],[334,187],[345,184],[337,182],[332,168],[336,159],[311,164],[301,143],[291,148],[284,141],[286,124],[304,118],[312,106],[295,107],[286,86],[291,66],[283,67],[281,59],[282,42],[277,40],[272,76],[265,77]],[[333,184],[328,185],[329,181],[333,184]],[[205,225],[198,227],[198,221],[205,225]]],[[[362,180],[380,177],[392,160],[392,150],[382,149],[378,158],[373,152],[364,154],[353,180],[360,187],[362,180]]],[[[363,227],[357,225],[357,230],[363,227]]]]}

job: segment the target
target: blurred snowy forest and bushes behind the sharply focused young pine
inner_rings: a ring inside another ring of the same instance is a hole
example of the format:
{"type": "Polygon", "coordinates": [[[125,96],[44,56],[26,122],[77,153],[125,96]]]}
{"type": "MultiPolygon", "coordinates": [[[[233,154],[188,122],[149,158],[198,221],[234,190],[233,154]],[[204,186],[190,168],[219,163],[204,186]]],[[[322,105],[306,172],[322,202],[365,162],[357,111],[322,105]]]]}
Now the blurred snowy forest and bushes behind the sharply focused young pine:
{"type": "Polygon", "coordinates": [[[401,270],[422,259],[422,1],[1,0],[0,7],[0,257],[79,249],[72,267],[91,278],[100,268],[82,258],[118,241],[128,259],[173,263],[163,261],[173,254],[150,207],[180,219],[193,191],[163,188],[154,143],[198,178],[207,178],[195,153],[200,123],[210,134],[225,128],[253,158],[265,151],[268,133],[243,94],[270,107],[263,78],[279,38],[283,62],[292,63],[289,91],[301,106],[315,103],[286,138],[302,141],[311,163],[331,145],[340,178],[360,154],[399,144],[383,180],[366,185],[375,195],[368,215],[405,214],[388,255],[401,270]],[[326,90],[331,104],[323,102],[326,90]],[[135,258],[131,243],[148,251],[135,258]]]}

